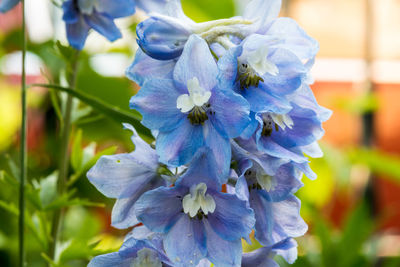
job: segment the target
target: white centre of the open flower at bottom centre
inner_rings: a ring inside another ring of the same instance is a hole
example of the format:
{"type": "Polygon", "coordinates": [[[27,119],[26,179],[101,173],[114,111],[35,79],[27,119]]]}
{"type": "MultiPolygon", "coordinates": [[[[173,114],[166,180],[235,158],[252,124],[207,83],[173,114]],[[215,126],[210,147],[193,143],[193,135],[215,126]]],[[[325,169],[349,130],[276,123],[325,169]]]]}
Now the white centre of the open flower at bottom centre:
{"type": "Polygon", "coordinates": [[[195,217],[201,209],[205,215],[213,213],[215,210],[215,201],[212,196],[206,195],[207,185],[200,183],[190,187],[190,194],[187,194],[183,200],[183,211],[190,217],[195,217]]]}

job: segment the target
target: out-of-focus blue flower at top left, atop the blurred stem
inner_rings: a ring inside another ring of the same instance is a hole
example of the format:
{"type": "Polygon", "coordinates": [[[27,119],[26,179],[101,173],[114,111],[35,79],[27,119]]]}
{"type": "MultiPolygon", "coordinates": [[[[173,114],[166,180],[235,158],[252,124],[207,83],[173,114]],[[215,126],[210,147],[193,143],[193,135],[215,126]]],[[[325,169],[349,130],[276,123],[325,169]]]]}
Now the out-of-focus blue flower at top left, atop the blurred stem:
{"type": "Polygon", "coordinates": [[[115,25],[114,19],[135,13],[135,2],[134,0],[67,0],[62,8],[68,41],[72,47],[81,50],[91,28],[110,41],[121,38],[121,32],[115,25]]]}

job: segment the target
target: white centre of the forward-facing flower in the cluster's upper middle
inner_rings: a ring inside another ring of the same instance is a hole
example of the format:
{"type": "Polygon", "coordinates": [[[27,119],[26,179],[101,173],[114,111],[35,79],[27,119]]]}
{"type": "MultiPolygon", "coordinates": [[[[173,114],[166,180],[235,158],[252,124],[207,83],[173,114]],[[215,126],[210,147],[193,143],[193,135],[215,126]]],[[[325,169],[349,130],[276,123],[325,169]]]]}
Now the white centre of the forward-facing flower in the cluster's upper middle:
{"type": "Polygon", "coordinates": [[[199,80],[194,77],[187,82],[189,94],[183,94],[176,100],[176,107],[182,113],[191,111],[194,107],[201,107],[208,102],[211,92],[200,86],[199,80]]]}

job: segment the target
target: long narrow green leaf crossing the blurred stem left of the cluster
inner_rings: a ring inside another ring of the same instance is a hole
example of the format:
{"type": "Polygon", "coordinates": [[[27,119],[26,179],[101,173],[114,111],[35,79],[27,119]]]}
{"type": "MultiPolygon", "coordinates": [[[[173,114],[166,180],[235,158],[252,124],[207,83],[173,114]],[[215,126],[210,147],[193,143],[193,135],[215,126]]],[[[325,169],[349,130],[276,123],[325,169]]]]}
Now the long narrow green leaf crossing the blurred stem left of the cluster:
{"type": "Polygon", "coordinates": [[[137,111],[125,111],[120,109],[117,106],[110,105],[98,98],[95,98],[91,95],[88,95],[82,91],[79,90],[74,90],[72,88],[67,88],[67,87],[62,87],[59,85],[52,85],[52,84],[32,84],[30,87],[45,87],[45,88],[50,88],[54,90],[58,90],[61,92],[66,92],[69,95],[72,95],[76,98],[78,98],[80,101],[84,102],[85,104],[93,107],[97,111],[109,116],[110,118],[113,118],[115,120],[118,120],[119,122],[128,122],[132,124],[135,129],[142,135],[145,135],[147,137],[151,137],[151,132],[149,129],[144,127],[140,121],[142,119],[141,115],[137,111]]]}

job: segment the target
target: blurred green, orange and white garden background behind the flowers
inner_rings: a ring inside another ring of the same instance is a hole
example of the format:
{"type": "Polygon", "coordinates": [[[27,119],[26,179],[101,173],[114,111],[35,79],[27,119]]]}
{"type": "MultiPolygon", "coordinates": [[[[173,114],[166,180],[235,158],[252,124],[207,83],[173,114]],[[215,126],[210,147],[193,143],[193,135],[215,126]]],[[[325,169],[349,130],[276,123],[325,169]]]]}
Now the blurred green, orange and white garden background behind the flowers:
{"type": "MultiPolygon", "coordinates": [[[[239,14],[246,3],[182,2],[198,22],[239,14]]],[[[66,59],[55,46],[56,40],[66,44],[60,9],[48,0],[26,3],[28,83],[63,84],[66,59]]],[[[0,15],[0,266],[17,263],[20,8],[0,15]]],[[[306,186],[297,193],[310,229],[298,239],[294,266],[400,266],[399,14],[399,0],[283,1],[281,16],[294,18],[320,42],[312,89],[319,103],[334,111],[324,125],[325,157],[311,163],[318,179],[304,177],[306,186]]],[[[124,38],[113,44],[97,33],[90,35],[80,62],[79,90],[129,110],[129,99],[139,88],[124,71],[137,49],[135,26],[143,16],[138,12],[119,20],[124,38]]],[[[117,250],[126,233],[109,226],[114,201],[97,192],[85,173],[100,155],[132,150],[130,133],[120,121],[77,100],[70,173],[76,198],[61,203],[56,195],[65,98],[47,89],[28,93],[29,266],[85,266],[93,255],[117,250]],[[60,205],[69,208],[55,263],[43,253],[50,227],[46,216],[60,205]]],[[[245,244],[247,250],[256,246],[245,244]]]]}

